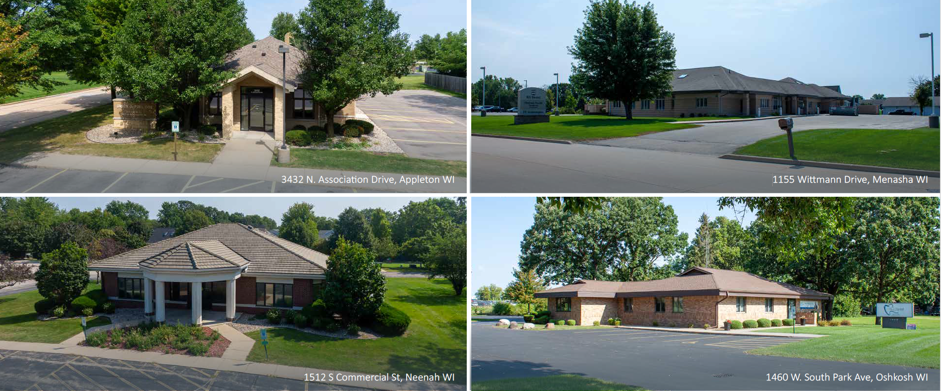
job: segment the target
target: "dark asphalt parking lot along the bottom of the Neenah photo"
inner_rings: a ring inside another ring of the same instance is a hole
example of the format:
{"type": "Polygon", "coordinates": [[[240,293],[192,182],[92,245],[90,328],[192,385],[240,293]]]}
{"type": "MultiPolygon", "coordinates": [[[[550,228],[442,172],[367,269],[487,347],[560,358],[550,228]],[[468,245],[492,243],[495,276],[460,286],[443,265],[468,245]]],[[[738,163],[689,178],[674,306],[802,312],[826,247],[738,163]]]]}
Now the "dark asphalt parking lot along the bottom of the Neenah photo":
{"type": "Polygon", "coordinates": [[[232,371],[0,350],[0,390],[359,390],[232,371]]]}

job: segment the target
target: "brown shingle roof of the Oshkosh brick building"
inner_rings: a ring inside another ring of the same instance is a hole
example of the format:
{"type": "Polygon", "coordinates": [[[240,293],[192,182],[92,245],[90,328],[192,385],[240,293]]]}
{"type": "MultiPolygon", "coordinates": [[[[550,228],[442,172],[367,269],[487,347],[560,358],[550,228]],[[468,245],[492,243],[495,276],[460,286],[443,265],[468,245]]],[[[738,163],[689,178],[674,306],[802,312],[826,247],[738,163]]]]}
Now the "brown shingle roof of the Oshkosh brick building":
{"type": "Polygon", "coordinates": [[[719,295],[750,293],[829,298],[813,289],[776,282],[756,274],[724,269],[692,268],[674,277],[651,281],[579,280],[536,292],[536,297],[643,297],[653,295],[719,295]]]}

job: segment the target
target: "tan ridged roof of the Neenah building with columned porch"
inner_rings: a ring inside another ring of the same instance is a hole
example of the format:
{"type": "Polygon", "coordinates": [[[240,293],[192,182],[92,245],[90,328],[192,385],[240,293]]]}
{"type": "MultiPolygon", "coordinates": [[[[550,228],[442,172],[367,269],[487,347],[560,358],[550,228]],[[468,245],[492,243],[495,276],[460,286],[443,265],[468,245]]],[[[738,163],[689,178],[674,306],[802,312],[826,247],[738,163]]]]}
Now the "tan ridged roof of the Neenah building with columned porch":
{"type": "Polygon", "coordinates": [[[194,270],[233,267],[242,260],[248,265],[246,273],[324,274],[327,270],[327,255],[237,223],[204,227],[91,262],[88,268],[136,270],[139,264],[194,270]],[[228,266],[220,266],[221,262],[228,266]]]}

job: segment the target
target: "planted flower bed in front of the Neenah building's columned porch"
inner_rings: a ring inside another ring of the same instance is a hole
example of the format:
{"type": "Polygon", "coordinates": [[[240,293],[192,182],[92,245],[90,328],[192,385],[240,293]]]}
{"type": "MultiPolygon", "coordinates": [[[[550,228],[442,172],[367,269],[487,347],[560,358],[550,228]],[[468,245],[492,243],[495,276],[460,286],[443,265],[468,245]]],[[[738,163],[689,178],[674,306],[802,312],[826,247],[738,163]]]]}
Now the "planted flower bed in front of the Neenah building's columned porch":
{"type": "Polygon", "coordinates": [[[81,344],[108,349],[221,357],[231,342],[209,327],[144,323],[88,334],[81,344]]]}

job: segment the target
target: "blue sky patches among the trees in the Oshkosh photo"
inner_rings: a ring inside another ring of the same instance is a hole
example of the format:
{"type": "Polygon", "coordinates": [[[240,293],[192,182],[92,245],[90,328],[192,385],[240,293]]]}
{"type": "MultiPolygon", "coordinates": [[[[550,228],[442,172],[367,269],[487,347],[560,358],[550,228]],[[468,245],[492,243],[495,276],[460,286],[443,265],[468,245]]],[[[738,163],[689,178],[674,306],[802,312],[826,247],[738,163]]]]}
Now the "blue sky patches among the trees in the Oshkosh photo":
{"type": "MultiPolygon", "coordinates": [[[[679,220],[678,229],[693,239],[699,216],[705,211],[710,218],[716,216],[736,217],[726,209],[719,211],[715,197],[663,197],[663,202],[673,206],[679,220]]],[[[535,197],[491,197],[475,196],[470,201],[470,293],[485,285],[497,284],[506,287],[513,280],[513,268],[519,260],[519,242],[526,229],[533,226],[535,197]]],[[[755,219],[746,213],[742,226],[747,227],[755,219]]]]}

